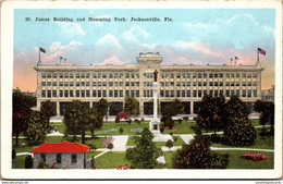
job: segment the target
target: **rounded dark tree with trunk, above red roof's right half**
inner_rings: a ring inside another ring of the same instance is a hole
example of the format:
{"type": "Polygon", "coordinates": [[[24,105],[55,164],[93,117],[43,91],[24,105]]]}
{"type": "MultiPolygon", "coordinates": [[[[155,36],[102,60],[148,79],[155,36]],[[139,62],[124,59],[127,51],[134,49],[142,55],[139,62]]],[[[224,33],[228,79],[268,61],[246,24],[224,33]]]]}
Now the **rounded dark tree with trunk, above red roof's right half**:
{"type": "Polygon", "coordinates": [[[88,128],[88,109],[79,101],[72,101],[65,110],[63,122],[69,134],[82,134],[82,143],[85,143],[85,132],[88,128]]]}

